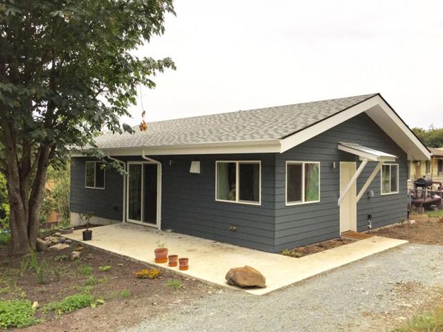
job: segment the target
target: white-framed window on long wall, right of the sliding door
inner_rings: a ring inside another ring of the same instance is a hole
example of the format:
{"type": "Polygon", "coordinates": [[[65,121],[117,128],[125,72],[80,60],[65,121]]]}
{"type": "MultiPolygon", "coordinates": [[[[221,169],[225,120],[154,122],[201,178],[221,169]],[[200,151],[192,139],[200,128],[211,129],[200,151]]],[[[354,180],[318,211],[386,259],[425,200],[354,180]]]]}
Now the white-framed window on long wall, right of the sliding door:
{"type": "Polygon", "coordinates": [[[261,196],[260,160],[215,162],[215,201],[260,205],[261,196]]]}

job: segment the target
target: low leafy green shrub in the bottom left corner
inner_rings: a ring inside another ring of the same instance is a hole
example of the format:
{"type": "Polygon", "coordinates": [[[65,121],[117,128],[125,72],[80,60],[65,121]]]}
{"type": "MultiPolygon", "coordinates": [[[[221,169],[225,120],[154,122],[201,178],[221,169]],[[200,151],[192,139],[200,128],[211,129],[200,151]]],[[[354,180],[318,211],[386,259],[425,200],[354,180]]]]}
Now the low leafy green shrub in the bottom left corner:
{"type": "Polygon", "coordinates": [[[8,327],[25,327],[37,324],[40,320],[34,317],[35,308],[28,299],[10,301],[0,300],[0,329],[8,327]]]}

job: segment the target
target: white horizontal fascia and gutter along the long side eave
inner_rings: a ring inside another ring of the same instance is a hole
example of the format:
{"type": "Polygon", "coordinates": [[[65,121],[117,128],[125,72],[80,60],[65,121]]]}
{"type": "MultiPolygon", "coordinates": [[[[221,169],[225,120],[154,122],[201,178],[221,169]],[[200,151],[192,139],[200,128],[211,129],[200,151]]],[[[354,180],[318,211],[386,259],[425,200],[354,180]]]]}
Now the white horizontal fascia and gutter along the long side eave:
{"type": "MultiPolygon", "coordinates": [[[[255,140],[244,142],[215,142],[193,145],[168,145],[157,147],[101,148],[111,156],[140,156],[143,149],[149,156],[180,154],[255,154],[280,152],[280,140],[255,140]]],[[[84,156],[85,151],[72,151],[71,157],[84,156]]]]}

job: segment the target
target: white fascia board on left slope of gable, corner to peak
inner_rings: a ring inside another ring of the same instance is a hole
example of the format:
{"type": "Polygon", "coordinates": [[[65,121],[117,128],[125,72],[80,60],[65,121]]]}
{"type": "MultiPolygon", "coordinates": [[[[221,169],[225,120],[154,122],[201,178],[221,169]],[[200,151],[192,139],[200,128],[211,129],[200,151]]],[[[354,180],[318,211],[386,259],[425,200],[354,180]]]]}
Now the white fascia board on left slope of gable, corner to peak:
{"type": "Polygon", "coordinates": [[[335,127],[336,125],[341,124],[342,122],[345,122],[346,120],[349,120],[354,116],[358,116],[360,113],[368,111],[368,109],[370,109],[371,107],[376,107],[378,102],[377,100],[374,99],[374,97],[371,97],[368,100],[365,100],[364,102],[356,104],[353,107],[346,109],[345,111],[341,111],[340,113],[337,113],[336,115],[331,116],[323,121],[313,124],[310,127],[302,129],[296,133],[293,133],[291,136],[288,136],[287,138],[282,138],[280,140],[282,145],[280,153],[287,151],[293,147],[296,147],[297,145],[300,145],[302,142],[305,142],[310,138],[313,138],[314,136],[317,136],[318,134],[323,133],[328,129],[331,129],[332,127],[335,127]]]}

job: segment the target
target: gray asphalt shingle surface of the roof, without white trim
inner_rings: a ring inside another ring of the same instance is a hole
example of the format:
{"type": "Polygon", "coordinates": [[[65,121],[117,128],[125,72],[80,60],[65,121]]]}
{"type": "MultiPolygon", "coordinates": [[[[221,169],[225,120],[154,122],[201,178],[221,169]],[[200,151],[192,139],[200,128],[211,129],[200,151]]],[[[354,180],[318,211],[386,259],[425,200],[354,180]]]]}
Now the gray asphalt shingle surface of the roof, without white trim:
{"type": "Polygon", "coordinates": [[[146,131],[105,133],[96,138],[96,144],[100,149],[114,149],[280,139],[374,95],[148,122],[146,131]]]}

